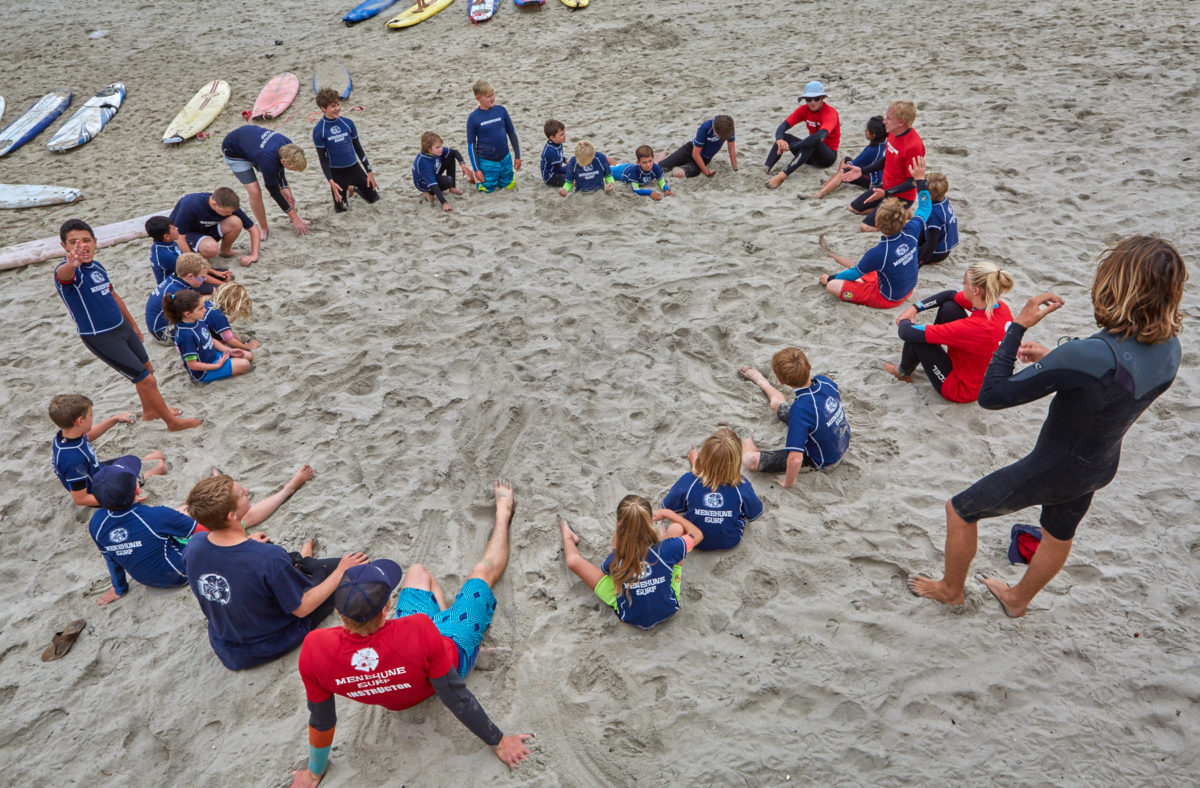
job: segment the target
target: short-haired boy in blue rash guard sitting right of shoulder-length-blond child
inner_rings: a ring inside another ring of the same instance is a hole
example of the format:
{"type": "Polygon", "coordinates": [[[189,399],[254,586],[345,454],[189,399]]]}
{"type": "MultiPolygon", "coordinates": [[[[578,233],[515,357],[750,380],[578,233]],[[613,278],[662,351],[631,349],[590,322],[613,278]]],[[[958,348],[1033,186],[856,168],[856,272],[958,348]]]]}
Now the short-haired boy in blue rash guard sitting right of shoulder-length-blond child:
{"type": "Polygon", "coordinates": [[[784,348],[770,357],[770,368],[785,386],[796,389],[791,404],[761,372],[746,365],[743,378],[762,389],[767,407],[787,425],[787,441],[775,451],[758,451],[754,438],[742,440],[742,462],[749,470],[778,474],[780,487],[791,487],[800,468],[832,468],[850,449],[850,422],[841,407],[838,384],[814,375],[809,357],[799,348],[784,348]]]}

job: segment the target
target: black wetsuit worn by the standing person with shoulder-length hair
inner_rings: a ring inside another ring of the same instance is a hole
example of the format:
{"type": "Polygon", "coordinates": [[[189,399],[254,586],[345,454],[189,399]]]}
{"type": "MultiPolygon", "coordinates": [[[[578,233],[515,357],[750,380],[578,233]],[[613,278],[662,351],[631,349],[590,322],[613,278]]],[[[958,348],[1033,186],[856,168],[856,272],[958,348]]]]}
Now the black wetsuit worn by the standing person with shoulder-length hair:
{"type": "Polygon", "coordinates": [[[1024,336],[1024,326],[1008,327],[988,366],[979,404],[998,410],[1057,393],[1038,443],[950,504],[968,523],[1040,504],[1045,531],[1069,540],[1092,494],[1116,475],[1126,432],[1175,380],[1180,341],[1142,344],[1099,331],[1055,348],[1014,375],[1024,336]]]}

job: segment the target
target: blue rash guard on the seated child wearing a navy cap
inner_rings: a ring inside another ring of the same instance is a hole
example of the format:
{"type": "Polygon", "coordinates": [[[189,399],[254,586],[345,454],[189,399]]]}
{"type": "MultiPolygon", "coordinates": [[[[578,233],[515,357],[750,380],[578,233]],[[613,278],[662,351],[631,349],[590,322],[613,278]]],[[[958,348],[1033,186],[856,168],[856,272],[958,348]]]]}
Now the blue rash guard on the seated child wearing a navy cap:
{"type": "Polygon", "coordinates": [[[88,523],[88,533],[108,564],[113,589],[122,596],[130,590],[126,572],[154,588],[187,583],[184,548],[178,540],[186,540],[194,530],[196,521],[179,510],[145,504],[101,509],[88,523]]]}

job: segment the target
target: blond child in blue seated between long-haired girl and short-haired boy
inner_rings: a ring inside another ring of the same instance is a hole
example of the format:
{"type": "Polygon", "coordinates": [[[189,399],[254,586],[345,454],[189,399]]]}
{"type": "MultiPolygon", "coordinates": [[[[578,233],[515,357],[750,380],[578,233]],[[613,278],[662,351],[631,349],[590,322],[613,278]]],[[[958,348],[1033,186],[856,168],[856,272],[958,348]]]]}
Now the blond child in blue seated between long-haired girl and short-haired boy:
{"type": "Polygon", "coordinates": [[[674,483],[662,507],[686,517],[703,534],[702,551],[725,551],[742,541],[748,522],[762,516],[762,501],[742,475],[742,441],[724,427],[688,452],[691,470],[674,483]]]}

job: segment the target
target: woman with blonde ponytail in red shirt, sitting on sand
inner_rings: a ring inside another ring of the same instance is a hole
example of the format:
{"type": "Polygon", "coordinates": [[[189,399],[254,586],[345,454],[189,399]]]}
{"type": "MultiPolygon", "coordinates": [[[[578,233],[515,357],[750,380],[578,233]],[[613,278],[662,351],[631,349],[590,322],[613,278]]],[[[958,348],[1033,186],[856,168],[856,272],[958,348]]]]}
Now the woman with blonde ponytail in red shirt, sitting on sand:
{"type": "Polygon", "coordinates": [[[962,275],[962,289],[942,290],[917,301],[896,317],[904,350],[900,363],[883,368],[905,383],[919,363],[929,381],[950,402],[979,398],[991,354],[1000,347],[1013,313],[1000,296],[1013,289],[1013,277],[995,263],[973,263],[962,275]],[[913,323],[918,312],[937,308],[930,324],[913,323]],[[946,345],[944,348],[942,345],[946,345]]]}

